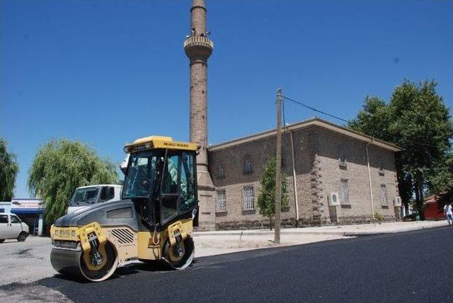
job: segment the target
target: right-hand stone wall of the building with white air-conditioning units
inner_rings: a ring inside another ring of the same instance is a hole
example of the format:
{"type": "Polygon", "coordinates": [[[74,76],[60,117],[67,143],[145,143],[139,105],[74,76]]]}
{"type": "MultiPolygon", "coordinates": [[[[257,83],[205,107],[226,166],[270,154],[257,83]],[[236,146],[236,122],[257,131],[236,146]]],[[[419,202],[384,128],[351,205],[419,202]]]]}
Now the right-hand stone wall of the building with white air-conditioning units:
{"type": "MultiPolygon", "coordinates": [[[[372,205],[369,190],[366,144],[327,130],[318,131],[317,150],[323,200],[328,202],[328,193],[339,193],[342,205],[326,207],[331,222],[339,224],[372,221],[372,205]],[[346,167],[340,166],[339,154],[343,149],[346,167]],[[341,199],[340,179],[348,180],[349,202],[341,199]]],[[[374,212],[384,220],[395,220],[394,197],[398,195],[394,153],[369,146],[369,163],[372,178],[374,212]],[[379,171],[379,163],[383,171],[379,171]],[[386,205],[382,205],[381,185],[386,186],[386,205]]]]}

